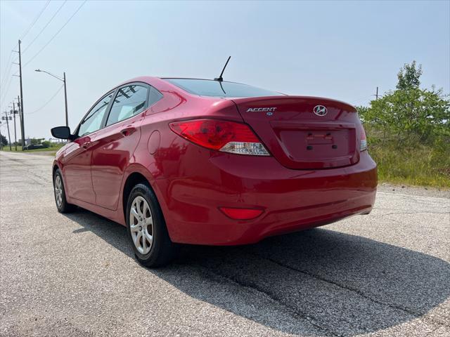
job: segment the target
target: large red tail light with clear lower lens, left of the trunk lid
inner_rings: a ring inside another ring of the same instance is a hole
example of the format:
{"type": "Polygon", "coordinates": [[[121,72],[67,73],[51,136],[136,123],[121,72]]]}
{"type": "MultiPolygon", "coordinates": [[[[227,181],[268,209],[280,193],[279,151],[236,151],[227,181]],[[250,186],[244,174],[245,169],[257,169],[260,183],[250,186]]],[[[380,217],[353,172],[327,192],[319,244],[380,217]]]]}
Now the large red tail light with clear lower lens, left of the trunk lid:
{"type": "Polygon", "coordinates": [[[217,119],[194,119],[169,124],[177,135],[211,150],[270,156],[247,124],[217,119]]]}

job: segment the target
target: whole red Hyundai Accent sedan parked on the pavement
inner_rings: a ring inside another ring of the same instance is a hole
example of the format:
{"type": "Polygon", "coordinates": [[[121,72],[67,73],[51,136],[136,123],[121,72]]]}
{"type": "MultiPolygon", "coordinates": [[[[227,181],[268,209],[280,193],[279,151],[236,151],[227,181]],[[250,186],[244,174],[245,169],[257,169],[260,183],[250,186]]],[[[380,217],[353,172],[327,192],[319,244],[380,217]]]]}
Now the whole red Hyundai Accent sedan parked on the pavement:
{"type": "Polygon", "coordinates": [[[238,245],[369,213],[376,164],[352,105],[222,79],[139,77],[103,95],[56,153],[58,211],[127,226],[137,260],[238,245]]]}

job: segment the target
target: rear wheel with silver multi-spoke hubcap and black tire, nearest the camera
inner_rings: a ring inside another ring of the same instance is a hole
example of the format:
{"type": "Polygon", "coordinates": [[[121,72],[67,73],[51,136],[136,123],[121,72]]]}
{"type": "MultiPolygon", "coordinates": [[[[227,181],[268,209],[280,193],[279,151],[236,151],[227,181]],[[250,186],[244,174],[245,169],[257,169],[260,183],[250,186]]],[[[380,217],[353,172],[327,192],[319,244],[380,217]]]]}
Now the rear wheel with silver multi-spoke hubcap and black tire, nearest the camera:
{"type": "Polygon", "coordinates": [[[136,260],[146,267],[167,265],[176,255],[178,245],[170,240],[158,199],[146,184],[129,194],[127,232],[136,260]]]}

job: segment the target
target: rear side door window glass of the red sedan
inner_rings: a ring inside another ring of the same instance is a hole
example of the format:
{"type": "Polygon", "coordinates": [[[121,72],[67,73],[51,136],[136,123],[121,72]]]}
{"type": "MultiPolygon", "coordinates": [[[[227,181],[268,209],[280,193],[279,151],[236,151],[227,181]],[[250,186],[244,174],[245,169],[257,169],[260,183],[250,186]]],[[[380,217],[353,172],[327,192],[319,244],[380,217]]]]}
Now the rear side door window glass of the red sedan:
{"type": "Polygon", "coordinates": [[[131,84],[117,91],[106,125],[123,121],[146,109],[148,88],[131,84]]]}

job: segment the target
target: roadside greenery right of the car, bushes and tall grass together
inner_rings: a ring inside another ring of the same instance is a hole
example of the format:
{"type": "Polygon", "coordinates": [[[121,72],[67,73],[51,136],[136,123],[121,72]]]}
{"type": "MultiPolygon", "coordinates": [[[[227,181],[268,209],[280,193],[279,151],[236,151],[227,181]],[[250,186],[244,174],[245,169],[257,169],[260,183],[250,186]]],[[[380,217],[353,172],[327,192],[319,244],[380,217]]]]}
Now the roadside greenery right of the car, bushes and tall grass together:
{"type": "Polygon", "coordinates": [[[450,101],[419,88],[421,74],[416,62],[404,65],[396,90],[357,109],[381,181],[449,188],[450,101]]]}

